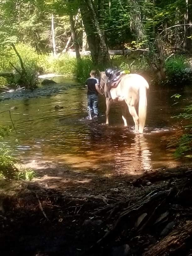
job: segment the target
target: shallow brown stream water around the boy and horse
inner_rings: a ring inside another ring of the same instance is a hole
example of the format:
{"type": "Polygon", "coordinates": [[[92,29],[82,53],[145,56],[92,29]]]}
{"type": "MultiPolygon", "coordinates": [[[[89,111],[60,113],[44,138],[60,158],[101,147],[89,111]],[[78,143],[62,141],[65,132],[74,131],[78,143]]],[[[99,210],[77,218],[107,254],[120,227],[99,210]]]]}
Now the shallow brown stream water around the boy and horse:
{"type": "MultiPolygon", "coordinates": [[[[179,114],[181,108],[189,104],[192,87],[180,91],[182,98],[178,104],[171,98],[174,93],[174,90],[150,88],[143,135],[134,133],[131,115],[127,118],[129,127],[123,127],[118,105],[111,109],[110,125],[105,125],[102,97],[100,117],[87,120],[86,89],[80,85],[67,90],[61,86],[60,92],[52,96],[5,100],[0,103],[0,109],[17,107],[12,110],[12,118],[18,134],[13,131],[7,144],[24,163],[36,159],[78,170],[132,173],[186,162],[186,159],[175,160],[173,149],[168,149],[167,144],[184,129],[182,121],[171,116],[179,114]],[[64,108],[56,110],[55,105],[64,108]]],[[[0,124],[11,124],[7,113],[1,114],[0,124]]]]}

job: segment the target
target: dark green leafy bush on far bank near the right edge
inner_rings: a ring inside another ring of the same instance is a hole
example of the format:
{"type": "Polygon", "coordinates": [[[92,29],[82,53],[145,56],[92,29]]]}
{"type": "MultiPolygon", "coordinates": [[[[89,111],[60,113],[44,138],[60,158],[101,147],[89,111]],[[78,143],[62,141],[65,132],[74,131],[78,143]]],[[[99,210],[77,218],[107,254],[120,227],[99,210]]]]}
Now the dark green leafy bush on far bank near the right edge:
{"type": "Polygon", "coordinates": [[[165,67],[169,82],[180,84],[190,81],[190,75],[185,71],[189,64],[183,56],[168,59],[165,67]]]}

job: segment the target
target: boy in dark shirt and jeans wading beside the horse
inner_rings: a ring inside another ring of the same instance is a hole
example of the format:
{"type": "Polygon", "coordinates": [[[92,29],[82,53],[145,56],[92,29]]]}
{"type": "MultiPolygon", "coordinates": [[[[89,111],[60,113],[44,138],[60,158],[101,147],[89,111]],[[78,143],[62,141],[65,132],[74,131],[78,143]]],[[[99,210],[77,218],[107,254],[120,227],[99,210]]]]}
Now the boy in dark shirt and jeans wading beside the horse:
{"type": "Polygon", "coordinates": [[[96,70],[91,70],[90,77],[86,81],[89,119],[92,119],[92,113],[96,116],[99,115],[98,93],[103,95],[99,89],[99,80],[95,78],[96,73],[96,70]]]}

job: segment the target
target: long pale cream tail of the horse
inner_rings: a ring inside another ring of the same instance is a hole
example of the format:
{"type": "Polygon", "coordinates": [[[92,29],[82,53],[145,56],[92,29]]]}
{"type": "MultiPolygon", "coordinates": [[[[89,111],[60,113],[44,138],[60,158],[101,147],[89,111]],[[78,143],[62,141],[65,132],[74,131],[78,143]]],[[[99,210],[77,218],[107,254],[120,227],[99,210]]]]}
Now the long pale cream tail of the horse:
{"type": "Polygon", "coordinates": [[[139,133],[143,133],[145,126],[146,116],[147,116],[147,89],[149,85],[142,84],[139,88],[139,133]]]}

